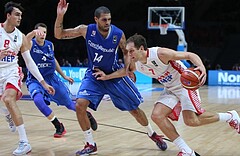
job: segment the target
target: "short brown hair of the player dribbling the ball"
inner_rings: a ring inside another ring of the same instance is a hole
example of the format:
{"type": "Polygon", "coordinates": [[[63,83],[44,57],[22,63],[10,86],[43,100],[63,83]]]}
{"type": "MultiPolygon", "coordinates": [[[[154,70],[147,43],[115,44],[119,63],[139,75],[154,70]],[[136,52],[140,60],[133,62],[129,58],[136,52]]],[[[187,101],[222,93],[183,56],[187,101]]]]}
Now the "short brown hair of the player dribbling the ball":
{"type": "Polygon", "coordinates": [[[126,43],[133,42],[135,47],[139,49],[141,46],[144,47],[144,50],[147,50],[147,42],[146,39],[142,35],[134,34],[133,36],[127,39],[126,43]]]}

